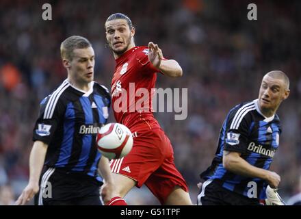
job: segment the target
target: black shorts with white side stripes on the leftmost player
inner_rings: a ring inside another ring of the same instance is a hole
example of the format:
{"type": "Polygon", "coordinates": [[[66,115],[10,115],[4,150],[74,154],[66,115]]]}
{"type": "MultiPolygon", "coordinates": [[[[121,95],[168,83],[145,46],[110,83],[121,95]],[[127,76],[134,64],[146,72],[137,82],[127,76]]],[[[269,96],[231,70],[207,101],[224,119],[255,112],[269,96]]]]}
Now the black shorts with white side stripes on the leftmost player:
{"type": "Polygon", "coordinates": [[[101,183],[92,177],[47,168],[40,177],[35,205],[102,205],[100,188],[101,183]]]}

